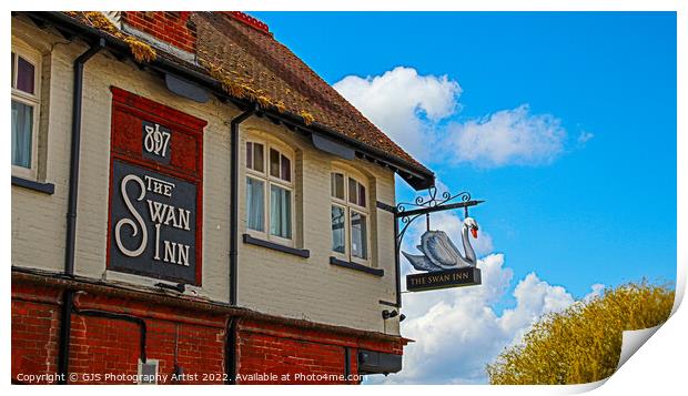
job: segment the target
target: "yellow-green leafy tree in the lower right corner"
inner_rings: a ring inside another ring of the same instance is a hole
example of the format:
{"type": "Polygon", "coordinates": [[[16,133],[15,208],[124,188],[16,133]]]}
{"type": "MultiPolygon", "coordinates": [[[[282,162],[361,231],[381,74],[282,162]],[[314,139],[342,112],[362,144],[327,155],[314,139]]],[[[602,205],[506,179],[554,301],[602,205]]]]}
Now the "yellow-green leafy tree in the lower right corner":
{"type": "Polygon", "coordinates": [[[624,331],[654,327],[671,313],[674,290],[646,281],[607,288],[543,316],[520,344],[505,348],[486,369],[490,384],[583,384],[616,369],[624,331]]]}

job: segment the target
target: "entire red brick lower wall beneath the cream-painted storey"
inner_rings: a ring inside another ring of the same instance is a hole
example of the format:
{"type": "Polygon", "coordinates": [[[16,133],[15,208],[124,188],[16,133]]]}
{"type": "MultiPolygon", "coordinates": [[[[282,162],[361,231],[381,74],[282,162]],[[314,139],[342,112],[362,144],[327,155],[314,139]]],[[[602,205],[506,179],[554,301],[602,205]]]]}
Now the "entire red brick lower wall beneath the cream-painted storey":
{"type": "MultiPolygon", "coordinates": [[[[12,379],[27,374],[55,374],[61,315],[57,287],[12,282],[12,379]]],[[[221,384],[225,373],[225,332],[229,317],[170,305],[118,297],[111,293],[74,295],[77,311],[71,318],[69,373],[78,384],[131,383],[140,358],[140,327],[119,318],[83,315],[95,309],[129,315],[146,324],[146,357],[158,359],[161,384],[221,384]],[[172,380],[176,362],[186,376],[172,380]],[[90,375],[90,377],[87,377],[90,375]]],[[[357,373],[358,349],[402,354],[404,341],[370,341],[351,335],[277,324],[237,319],[236,369],[239,384],[356,384],[344,378],[345,348],[350,349],[351,374],[357,373]],[[284,375],[290,375],[285,377],[284,375]],[[263,375],[262,378],[257,375],[263,375]],[[276,377],[265,377],[273,375],[276,377]],[[325,375],[333,375],[326,377],[325,375]],[[253,376],[253,377],[252,377],[253,376]],[[336,377],[334,377],[336,376],[336,377]]],[[[53,383],[43,378],[40,383],[53,383]]],[[[36,382],[33,382],[36,383],[36,382]]]]}

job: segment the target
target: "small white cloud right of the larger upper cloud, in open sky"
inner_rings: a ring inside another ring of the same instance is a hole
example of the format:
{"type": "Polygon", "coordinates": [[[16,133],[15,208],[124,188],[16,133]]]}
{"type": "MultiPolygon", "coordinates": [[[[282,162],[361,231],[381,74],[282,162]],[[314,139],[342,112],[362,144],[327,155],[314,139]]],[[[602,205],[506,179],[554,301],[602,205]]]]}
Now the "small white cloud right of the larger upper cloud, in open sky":
{"type": "Polygon", "coordinates": [[[522,104],[454,124],[446,139],[454,161],[492,167],[549,163],[564,151],[566,131],[559,119],[522,104]]]}

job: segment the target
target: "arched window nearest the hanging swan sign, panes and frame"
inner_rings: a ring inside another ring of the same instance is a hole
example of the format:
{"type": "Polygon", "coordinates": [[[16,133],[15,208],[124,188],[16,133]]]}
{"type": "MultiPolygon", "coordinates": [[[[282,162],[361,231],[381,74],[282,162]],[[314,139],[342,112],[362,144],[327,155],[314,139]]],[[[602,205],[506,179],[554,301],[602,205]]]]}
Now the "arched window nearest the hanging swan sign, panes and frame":
{"type": "Polygon", "coordinates": [[[363,177],[331,173],[332,251],[341,258],[368,263],[368,210],[363,177]]]}

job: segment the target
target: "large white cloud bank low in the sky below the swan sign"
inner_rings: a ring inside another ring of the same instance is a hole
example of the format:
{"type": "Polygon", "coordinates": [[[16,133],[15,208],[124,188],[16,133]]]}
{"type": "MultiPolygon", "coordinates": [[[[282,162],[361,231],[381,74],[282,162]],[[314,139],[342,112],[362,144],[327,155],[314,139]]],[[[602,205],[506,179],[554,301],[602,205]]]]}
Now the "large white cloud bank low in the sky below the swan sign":
{"type": "MultiPolygon", "coordinates": [[[[463,288],[406,294],[402,334],[415,339],[404,349],[404,367],[387,377],[371,376],[371,384],[484,384],[485,365],[520,339],[534,321],[574,303],[561,286],[535,273],[518,282],[516,305],[497,315],[493,305],[509,290],[514,273],[503,254],[478,261],[483,284],[463,288]]],[[[599,285],[593,293],[599,293],[599,285]]],[[[593,294],[591,293],[591,294],[593,294]]]]}

